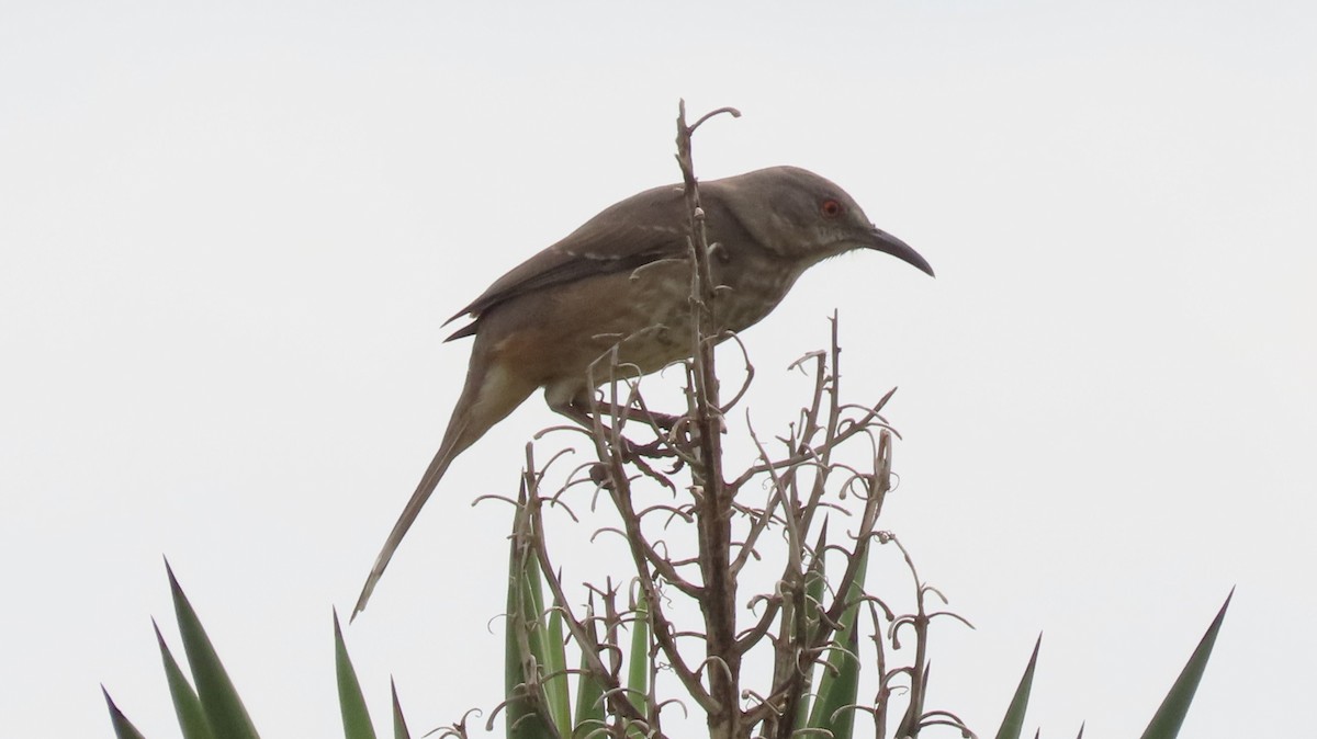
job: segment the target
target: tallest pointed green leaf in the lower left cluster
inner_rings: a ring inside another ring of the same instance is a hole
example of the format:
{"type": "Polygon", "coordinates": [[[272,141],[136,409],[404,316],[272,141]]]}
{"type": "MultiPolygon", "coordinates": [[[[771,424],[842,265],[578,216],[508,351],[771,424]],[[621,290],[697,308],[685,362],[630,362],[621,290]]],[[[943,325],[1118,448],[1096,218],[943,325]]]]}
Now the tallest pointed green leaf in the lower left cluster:
{"type": "Polygon", "coordinates": [[[211,638],[205,635],[205,629],[202,627],[192,604],[183,594],[169,561],[165,563],[165,571],[169,573],[170,590],[174,596],[174,615],[183,636],[183,651],[187,652],[196,694],[205,710],[211,730],[224,739],[257,739],[259,735],[255,726],[252,725],[233,681],[229,680],[215,646],[211,644],[211,638]]]}

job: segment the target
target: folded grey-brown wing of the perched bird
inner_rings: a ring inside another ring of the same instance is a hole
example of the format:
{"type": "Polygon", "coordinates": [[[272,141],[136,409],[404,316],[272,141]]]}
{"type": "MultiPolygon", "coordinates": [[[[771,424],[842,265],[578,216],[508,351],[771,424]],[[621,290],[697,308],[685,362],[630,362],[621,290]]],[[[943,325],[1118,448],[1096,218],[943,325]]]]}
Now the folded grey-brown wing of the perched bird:
{"type": "Polygon", "coordinates": [[[686,205],[680,185],[628,197],[495,280],[483,295],[449,318],[454,321],[470,314],[475,322],[446,341],[474,334],[481,314],[516,296],[684,256],[686,233],[686,205]]]}

